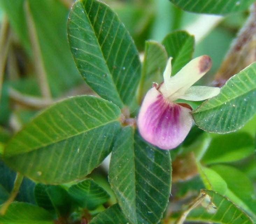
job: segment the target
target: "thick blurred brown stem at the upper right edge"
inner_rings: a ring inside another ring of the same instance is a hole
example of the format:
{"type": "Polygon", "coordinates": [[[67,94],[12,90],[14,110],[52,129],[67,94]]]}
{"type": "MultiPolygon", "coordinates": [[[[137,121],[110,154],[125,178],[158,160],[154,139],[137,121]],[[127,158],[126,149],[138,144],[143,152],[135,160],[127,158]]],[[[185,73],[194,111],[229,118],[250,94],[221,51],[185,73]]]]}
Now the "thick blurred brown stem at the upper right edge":
{"type": "Polygon", "coordinates": [[[226,81],[256,60],[256,3],[250,8],[250,15],[233,40],[219,70],[214,85],[223,86],[226,81]]]}

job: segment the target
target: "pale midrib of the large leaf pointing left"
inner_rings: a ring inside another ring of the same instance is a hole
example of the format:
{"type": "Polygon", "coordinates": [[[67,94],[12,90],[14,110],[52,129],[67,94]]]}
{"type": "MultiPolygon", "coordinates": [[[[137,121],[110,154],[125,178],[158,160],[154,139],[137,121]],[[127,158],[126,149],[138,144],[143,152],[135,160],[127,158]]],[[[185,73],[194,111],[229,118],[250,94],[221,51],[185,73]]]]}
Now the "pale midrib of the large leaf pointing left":
{"type": "MultiPolygon", "coordinates": [[[[68,140],[68,139],[73,138],[73,137],[75,137],[75,136],[78,136],[78,135],[80,135],[80,134],[84,134],[84,133],[86,133],[86,132],[88,132],[88,131],[91,131],[91,130],[93,130],[93,129],[100,128],[101,126],[104,126],[104,125],[107,125],[107,124],[110,124],[110,123],[114,123],[115,121],[118,121],[118,118],[116,118],[116,119],[114,119],[114,120],[111,120],[111,121],[109,121],[109,122],[107,122],[107,123],[100,124],[100,125],[98,125],[98,126],[94,126],[93,128],[87,129],[87,130],[85,130],[85,131],[78,132],[78,133],[73,134],[73,135],[71,135],[71,136],[69,136],[69,137],[67,137],[67,138],[61,138],[61,139],[58,139],[58,140],[56,140],[56,141],[52,141],[52,142],[50,142],[50,143],[42,144],[42,145],[39,146],[39,147],[33,147],[33,148],[30,148],[29,150],[26,150],[26,151],[19,151],[19,152],[16,152],[16,153],[8,153],[8,154],[6,154],[6,150],[5,150],[4,153],[3,153],[3,155],[4,155],[5,157],[12,157],[12,156],[16,156],[16,155],[20,155],[20,154],[32,152],[32,151],[34,151],[34,150],[38,150],[38,149],[44,148],[44,147],[46,147],[46,146],[50,146],[50,145],[52,145],[52,144],[56,144],[56,143],[58,143],[58,142],[60,142],[60,141],[68,140]]],[[[7,149],[7,148],[8,148],[8,145],[6,146],[5,149],[7,149]]]]}

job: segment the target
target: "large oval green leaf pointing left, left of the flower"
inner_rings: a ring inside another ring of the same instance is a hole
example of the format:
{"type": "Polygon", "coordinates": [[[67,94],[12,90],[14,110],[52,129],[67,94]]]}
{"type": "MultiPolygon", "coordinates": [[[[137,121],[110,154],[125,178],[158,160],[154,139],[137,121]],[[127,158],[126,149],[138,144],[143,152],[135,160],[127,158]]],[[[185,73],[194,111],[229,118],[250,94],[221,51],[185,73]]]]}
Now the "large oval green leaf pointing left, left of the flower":
{"type": "Polygon", "coordinates": [[[111,152],[119,116],[116,105],[93,96],[60,101],[8,142],[5,162],[42,183],[82,178],[111,152]]]}

